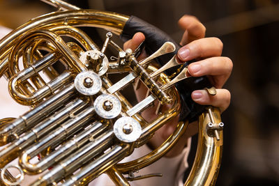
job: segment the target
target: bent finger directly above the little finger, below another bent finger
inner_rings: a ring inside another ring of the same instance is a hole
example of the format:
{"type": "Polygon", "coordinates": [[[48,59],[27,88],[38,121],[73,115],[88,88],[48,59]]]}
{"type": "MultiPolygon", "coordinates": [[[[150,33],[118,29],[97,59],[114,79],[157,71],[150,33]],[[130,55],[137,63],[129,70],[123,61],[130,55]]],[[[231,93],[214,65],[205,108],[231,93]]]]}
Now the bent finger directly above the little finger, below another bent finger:
{"type": "Polygon", "coordinates": [[[211,83],[222,88],[232,72],[232,60],[228,57],[212,57],[188,65],[188,72],[193,77],[210,75],[211,83]]]}

